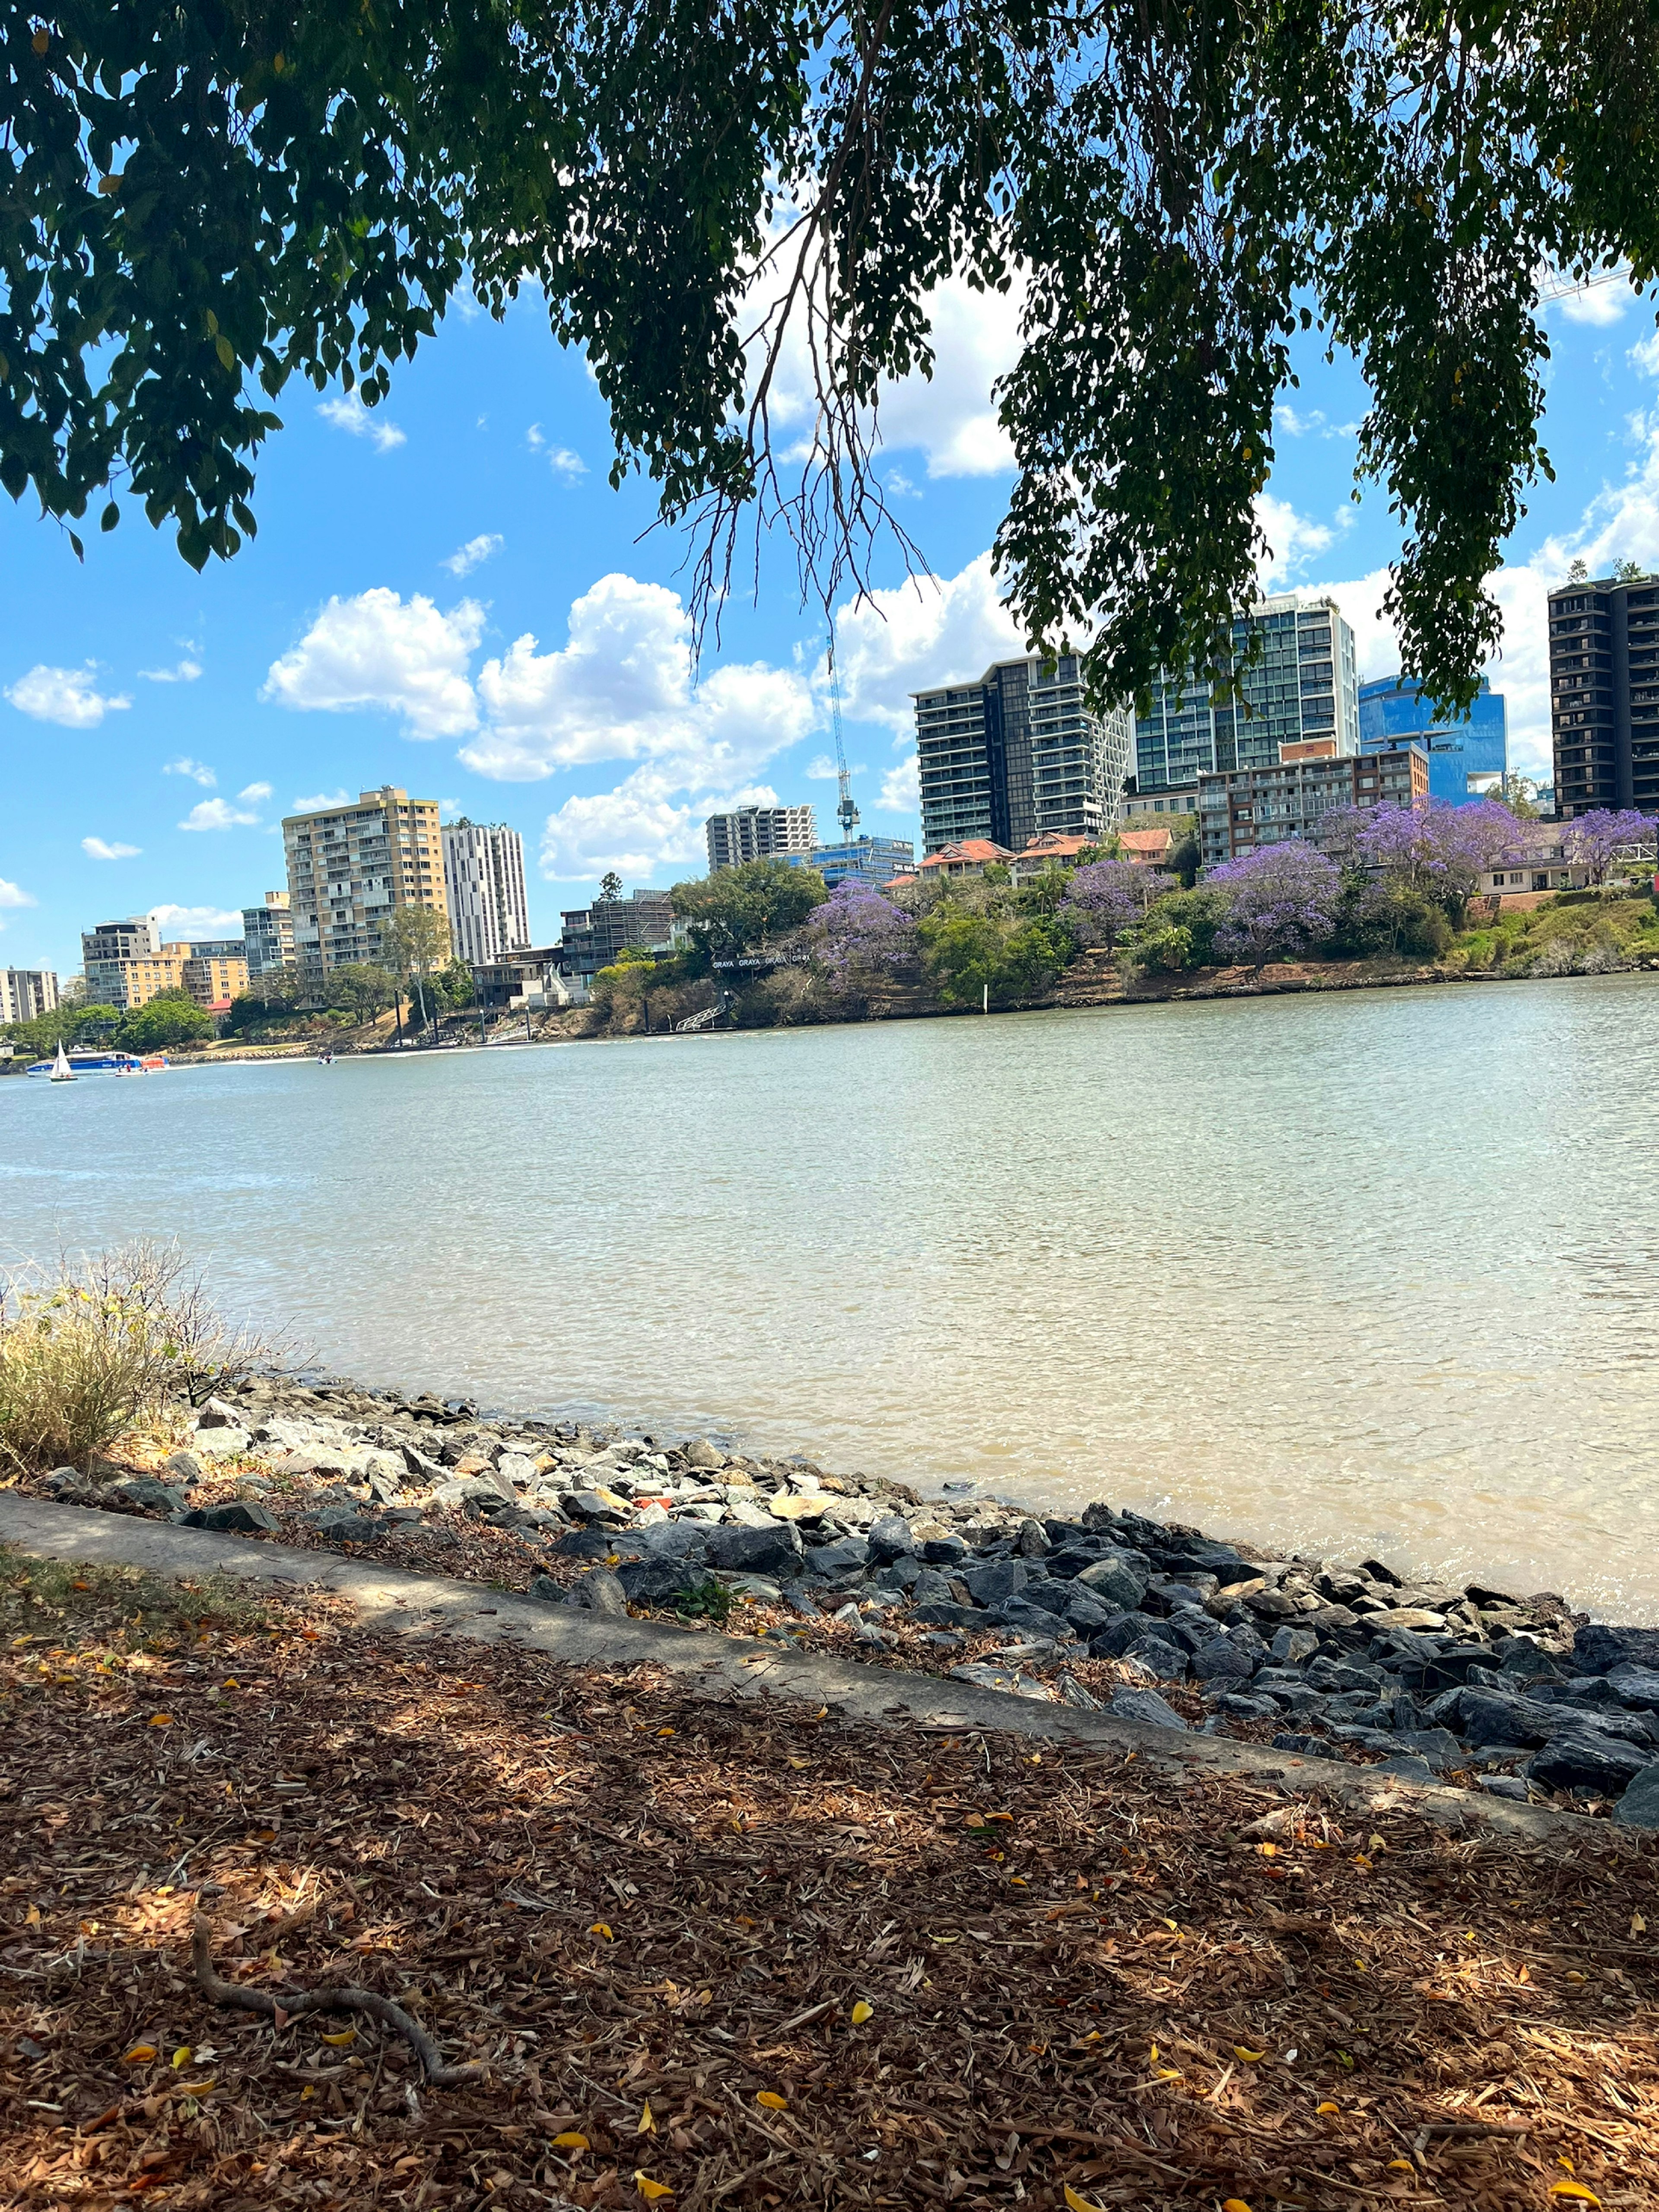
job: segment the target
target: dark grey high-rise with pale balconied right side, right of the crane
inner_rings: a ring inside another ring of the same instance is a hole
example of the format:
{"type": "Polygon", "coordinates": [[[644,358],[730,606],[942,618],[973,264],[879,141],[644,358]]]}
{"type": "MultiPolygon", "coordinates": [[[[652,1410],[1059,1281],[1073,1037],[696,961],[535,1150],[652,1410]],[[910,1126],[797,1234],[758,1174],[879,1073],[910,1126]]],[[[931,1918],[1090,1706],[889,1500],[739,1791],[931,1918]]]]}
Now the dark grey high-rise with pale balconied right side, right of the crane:
{"type": "Polygon", "coordinates": [[[922,852],[989,838],[1104,838],[1117,823],[1133,723],[1084,706],[1077,659],[998,661],[978,684],[911,692],[922,852]]]}

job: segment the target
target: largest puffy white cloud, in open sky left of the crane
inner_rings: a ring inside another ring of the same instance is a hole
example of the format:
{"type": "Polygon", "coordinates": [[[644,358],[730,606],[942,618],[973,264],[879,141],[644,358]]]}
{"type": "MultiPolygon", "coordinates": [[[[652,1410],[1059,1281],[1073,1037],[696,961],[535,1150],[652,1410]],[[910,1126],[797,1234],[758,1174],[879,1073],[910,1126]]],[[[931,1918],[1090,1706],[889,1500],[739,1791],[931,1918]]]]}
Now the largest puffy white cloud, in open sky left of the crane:
{"type": "Polygon", "coordinates": [[[726,664],[692,688],[679,595],[606,575],[571,606],[568,644],[515,639],[478,672],[487,728],[460,759],[480,776],[533,783],[586,761],[672,761],[679,785],[728,783],[805,737],[816,719],[801,675],[726,664]]]}

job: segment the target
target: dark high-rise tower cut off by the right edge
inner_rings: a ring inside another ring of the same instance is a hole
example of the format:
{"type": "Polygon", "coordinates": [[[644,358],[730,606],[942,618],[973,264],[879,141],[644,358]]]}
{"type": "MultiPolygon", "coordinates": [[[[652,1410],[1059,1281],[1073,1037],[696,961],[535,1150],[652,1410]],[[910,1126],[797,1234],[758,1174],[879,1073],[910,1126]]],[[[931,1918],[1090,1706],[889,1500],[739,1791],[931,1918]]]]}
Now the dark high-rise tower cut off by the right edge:
{"type": "Polygon", "coordinates": [[[1659,812],[1659,575],[1551,593],[1555,812],[1659,812]]]}

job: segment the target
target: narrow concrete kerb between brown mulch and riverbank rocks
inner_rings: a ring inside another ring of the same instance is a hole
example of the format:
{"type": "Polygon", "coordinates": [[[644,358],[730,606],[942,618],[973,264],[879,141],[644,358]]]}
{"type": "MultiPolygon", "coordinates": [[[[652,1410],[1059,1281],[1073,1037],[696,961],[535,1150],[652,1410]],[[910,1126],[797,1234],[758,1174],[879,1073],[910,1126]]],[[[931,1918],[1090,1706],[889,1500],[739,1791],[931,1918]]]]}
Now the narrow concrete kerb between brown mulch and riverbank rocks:
{"type": "Polygon", "coordinates": [[[1557,1843],[1597,1849],[1639,1847],[1639,1834],[1610,1820],[1504,1803],[1400,1776],[1374,1776],[1336,1759],[1292,1759],[1230,1736],[1181,1736],[1168,1728],[1119,1721],[1104,1712],[1046,1705],[1004,1690],[909,1674],[878,1663],[821,1659],[810,1652],[759,1652],[737,1637],[672,1628],[668,1621],[617,1619],[575,1606],[544,1606],[493,1590],[480,1582],[416,1575],[288,1544],[175,1528],[168,1522],[100,1513],[91,1506],[51,1504],[0,1493],[0,1544],[29,1557],[73,1566],[137,1566],[153,1575],[234,1575],[285,1588],[332,1590],[347,1597],[367,1628],[411,1639],[467,1637],[538,1650],[564,1666],[650,1663],[684,1674],[706,1694],[796,1697],[830,1705],[849,1719],[911,1721],[918,1728],[964,1734],[991,1730],[1035,1743],[1088,1743],[1119,1750],[1146,1767],[1183,1781],[1239,1776],[1281,1798],[1321,1798],[1354,1812],[1413,1812],[1436,1827],[1484,1832],[1515,1843],[1557,1843]]]}

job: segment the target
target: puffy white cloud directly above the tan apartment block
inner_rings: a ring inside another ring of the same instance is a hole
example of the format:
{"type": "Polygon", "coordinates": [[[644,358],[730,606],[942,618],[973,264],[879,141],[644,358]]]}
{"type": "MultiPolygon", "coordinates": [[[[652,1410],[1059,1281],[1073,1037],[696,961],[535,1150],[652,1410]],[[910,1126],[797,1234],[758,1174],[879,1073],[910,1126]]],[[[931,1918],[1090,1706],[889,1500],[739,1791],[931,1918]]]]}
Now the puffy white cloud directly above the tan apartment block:
{"type": "Polygon", "coordinates": [[[482,635],[476,599],[442,615],[420,593],[405,606],[385,586],[336,597],[272,661],[261,699],[296,712],[383,708],[403,714],[407,737],[460,737],[478,723],[467,661],[482,635]]]}

